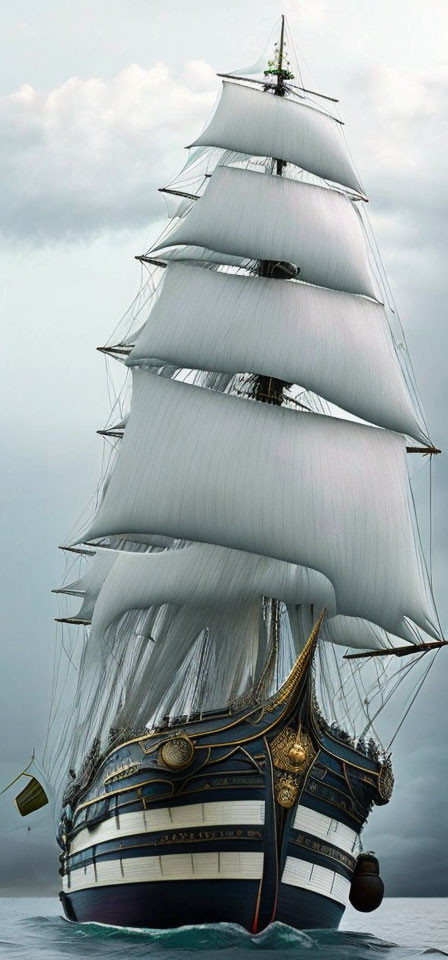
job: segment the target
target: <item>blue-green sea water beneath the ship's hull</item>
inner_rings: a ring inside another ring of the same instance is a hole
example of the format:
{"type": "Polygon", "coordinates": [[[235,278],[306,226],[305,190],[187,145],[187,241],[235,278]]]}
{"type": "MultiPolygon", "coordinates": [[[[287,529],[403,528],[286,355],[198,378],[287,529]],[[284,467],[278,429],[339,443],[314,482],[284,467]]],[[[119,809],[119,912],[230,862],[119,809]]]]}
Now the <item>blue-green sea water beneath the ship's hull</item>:
{"type": "Polygon", "coordinates": [[[236,924],[130,930],[69,923],[56,899],[0,898],[1,960],[412,960],[448,956],[448,900],[386,899],[375,913],[347,910],[340,930],[301,933],[274,923],[253,936],[236,924]]]}

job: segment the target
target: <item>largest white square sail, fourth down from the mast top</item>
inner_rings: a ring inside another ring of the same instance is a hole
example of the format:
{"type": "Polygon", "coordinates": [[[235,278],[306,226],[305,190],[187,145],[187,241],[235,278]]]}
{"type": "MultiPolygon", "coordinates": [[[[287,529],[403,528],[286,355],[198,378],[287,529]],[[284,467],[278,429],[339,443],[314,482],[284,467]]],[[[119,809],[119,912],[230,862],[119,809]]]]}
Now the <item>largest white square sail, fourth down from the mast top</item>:
{"type": "Polygon", "coordinates": [[[82,539],[148,531],[272,556],[323,573],[341,614],[396,634],[408,617],[438,636],[401,436],[133,376],[116,466],[82,539]]]}

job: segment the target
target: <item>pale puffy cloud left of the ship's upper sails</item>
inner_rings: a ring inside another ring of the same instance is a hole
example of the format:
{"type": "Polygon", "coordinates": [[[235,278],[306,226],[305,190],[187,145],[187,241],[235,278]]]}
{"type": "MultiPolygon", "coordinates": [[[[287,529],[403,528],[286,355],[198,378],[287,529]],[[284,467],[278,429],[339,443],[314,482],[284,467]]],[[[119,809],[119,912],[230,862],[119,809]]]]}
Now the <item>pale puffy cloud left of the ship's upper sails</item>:
{"type": "Polygon", "coordinates": [[[1,230],[27,243],[77,240],[160,216],[157,188],[179,164],[215,99],[203,61],[163,63],[112,80],[72,77],[48,94],[29,84],[0,102],[1,230]]]}

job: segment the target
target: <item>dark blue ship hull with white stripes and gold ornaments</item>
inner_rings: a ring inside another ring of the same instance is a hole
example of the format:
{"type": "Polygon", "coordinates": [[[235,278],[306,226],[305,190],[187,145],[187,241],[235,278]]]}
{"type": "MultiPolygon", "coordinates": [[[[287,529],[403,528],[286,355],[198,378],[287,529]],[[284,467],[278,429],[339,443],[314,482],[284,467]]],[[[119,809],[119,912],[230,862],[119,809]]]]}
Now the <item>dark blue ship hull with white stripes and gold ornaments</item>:
{"type": "Polygon", "coordinates": [[[386,802],[390,773],[310,709],[304,720],[303,704],[274,704],[112,751],[72,823],[62,820],[67,917],[337,927],[360,831],[372,803],[386,802]]]}

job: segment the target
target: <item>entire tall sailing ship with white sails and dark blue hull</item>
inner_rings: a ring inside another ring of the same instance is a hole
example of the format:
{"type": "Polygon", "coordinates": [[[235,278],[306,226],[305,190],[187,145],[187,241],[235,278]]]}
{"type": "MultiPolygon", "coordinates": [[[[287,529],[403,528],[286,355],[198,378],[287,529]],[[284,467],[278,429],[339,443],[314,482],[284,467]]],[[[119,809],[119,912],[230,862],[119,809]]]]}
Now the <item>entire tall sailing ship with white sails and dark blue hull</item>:
{"type": "Polygon", "coordinates": [[[73,921],[374,909],[381,718],[444,645],[408,475],[438,451],[337,102],[287,39],[282,17],[258,73],[219,75],[101,348],[126,380],[63,547],[71,674],[44,757],[73,921]]]}

